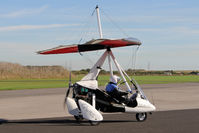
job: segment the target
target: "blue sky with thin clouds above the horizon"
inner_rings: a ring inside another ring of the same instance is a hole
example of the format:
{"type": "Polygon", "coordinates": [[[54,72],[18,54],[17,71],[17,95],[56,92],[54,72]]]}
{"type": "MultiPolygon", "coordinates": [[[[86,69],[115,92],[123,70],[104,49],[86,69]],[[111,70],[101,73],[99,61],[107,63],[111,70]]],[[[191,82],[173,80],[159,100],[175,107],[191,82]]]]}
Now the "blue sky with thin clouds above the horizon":
{"type": "Polygon", "coordinates": [[[1,0],[0,61],[90,68],[103,51],[83,55],[36,51],[99,38],[96,14],[92,15],[96,4],[104,38],[142,41],[138,50],[113,49],[124,69],[199,70],[198,0],[1,0]]]}

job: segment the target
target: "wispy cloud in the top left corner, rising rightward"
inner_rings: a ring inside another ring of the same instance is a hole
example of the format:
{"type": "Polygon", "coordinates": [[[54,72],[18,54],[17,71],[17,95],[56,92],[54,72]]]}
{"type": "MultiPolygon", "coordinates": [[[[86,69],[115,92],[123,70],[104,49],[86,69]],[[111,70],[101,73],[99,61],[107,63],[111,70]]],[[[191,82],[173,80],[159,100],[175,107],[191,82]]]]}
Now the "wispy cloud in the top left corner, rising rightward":
{"type": "Polygon", "coordinates": [[[23,10],[14,11],[7,14],[0,14],[0,18],[16,18],[16,17],[27,16],[27,15],[32,15],[32,14],[39,14],[43,12],[44,10],[46,10],[47,8],[48,6],[44,5],[40,8],[23,9],[23,10]]]}

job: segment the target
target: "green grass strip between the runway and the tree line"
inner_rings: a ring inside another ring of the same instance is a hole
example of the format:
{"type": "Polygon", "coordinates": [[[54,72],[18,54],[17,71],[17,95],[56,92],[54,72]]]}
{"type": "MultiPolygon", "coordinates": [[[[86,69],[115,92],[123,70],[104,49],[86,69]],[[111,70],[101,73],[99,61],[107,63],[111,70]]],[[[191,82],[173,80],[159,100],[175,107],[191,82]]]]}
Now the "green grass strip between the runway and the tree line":
{"type": "MultiPolygon", "coordinates": [[[[73,79],[73,83],[80,80],[80,75],[73,79]]],[[[168,84],[198,82],[199,76],[135,76],[139,84],[168,84]]],[[[99,86],[105,86],[109,82],[108,75],[98,78],[99,86]]],[[[65,88],[68,87],[68,79],[39,79],[39,80],[0,80],[0,90],[37,89],[37,88],[65,88]]]]}

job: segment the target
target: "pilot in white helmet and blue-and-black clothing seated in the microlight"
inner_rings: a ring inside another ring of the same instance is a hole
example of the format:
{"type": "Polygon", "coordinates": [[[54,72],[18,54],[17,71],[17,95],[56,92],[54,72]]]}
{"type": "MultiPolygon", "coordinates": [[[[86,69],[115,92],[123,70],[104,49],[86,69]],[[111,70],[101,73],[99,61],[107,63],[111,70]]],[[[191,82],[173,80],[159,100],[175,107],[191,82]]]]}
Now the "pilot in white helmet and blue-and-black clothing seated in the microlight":
{"type": "Polygon", "coordinates": [[[125,98],[122,96],[127,95],[127,92],[122,92],[120,88],[117,86],[117,83],[120,81],[120,77],[113,75],[110,78],[110,82],[106,86],[106,92],[113,98],[116,98],[120,102],[125,101],[125,98]]]}

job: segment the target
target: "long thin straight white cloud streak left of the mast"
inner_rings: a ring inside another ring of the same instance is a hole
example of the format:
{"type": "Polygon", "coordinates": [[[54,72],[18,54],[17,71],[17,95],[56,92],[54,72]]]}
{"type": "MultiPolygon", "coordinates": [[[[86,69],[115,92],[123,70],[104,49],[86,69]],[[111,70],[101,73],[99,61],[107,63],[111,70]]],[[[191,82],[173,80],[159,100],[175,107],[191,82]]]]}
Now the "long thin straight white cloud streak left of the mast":
{"type": "Polygon", "coordinates": [[[77,26],[79,24],[48,24],[48,25],[16,25],[16,26],[4,26],[0,27],[1,31],[16,31],[16,30],[34,30],[34,29],[49,29],[59,28],[66,26],[77,26]]]}

